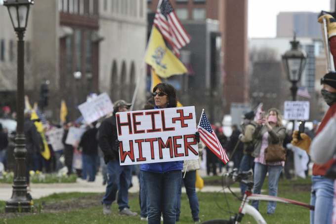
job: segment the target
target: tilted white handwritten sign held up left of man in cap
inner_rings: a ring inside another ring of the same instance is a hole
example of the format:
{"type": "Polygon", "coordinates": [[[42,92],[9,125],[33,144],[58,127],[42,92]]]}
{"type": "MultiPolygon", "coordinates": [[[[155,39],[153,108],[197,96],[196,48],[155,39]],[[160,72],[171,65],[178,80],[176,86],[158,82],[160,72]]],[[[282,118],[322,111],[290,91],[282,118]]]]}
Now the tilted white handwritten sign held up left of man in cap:
{"type": "Polygon", "coordinates": [[[113,112],[113,104],[107,93],[102,93],[90,101],[78,106],[86,123],[90,124],[98,120],[100,117],[113,112]]]}

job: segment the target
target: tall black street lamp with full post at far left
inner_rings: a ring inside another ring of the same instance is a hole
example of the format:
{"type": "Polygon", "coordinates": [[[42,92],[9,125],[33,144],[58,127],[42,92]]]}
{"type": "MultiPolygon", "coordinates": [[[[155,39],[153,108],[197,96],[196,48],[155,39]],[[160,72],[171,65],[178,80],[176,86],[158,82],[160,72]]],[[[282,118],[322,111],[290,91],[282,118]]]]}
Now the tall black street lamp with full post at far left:
{"type": "Polygon", "coordinates": [[[24,33],[27,27],[29,7],[32,0],[5,0],[3,5],[8,8],[10,20],[17,34],[17,127],[15,137],[15,173],[12,197],[6,201],[5,212],[30,212],[32,197],[27,193],[26,178],[26,138],[23,129],[24,101],[24,33]]]}

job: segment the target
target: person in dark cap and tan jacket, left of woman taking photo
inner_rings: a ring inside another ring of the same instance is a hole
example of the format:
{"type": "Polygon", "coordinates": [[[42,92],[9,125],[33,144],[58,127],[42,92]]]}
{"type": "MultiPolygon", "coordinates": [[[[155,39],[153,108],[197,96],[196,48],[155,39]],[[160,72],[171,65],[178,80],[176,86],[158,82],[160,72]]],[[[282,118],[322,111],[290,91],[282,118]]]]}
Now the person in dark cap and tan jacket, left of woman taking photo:
{"type": "MultiPolygon", "coordinates": [[[[242,161],[240,162],[239,171],[249,171],[254,169],[254,157],[252,152],[254,150],[254,143],[252,138],[252,132],[254,131],[257,123],[253,120],[254,112],[248,112],[243,115],[244,121],[241,124],[243,133],[239,135],[239,139],[244,143],[244,155],[242,161]]],[[[246,185],[239,184],[241,193],[244,195],[245,190],[247,189],[246,185]]]]}

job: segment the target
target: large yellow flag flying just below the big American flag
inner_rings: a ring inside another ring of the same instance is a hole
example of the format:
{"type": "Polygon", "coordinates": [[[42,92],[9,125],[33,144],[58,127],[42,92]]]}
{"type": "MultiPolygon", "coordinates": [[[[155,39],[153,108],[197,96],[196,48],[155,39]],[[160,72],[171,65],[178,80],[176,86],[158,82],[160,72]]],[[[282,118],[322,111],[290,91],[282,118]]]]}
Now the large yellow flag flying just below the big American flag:
{"type": "Polygon", "coordinates": [[[151,65],[156,74],[162,78],[182,75],[187,72],[183,63],[168,49],[156,27],[153,27],[145,62],[151,65]]]}

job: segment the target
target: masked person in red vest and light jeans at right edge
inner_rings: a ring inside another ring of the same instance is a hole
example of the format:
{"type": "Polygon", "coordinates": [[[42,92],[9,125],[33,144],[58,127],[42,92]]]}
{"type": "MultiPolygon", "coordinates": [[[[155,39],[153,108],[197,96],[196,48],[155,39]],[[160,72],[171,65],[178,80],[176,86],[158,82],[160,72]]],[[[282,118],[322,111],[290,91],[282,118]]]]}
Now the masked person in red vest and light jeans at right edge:
{"type": "MultiPolygon", "coordinates": [[[[316,131],[316,137],[321,138],[320,133],[326,127],[329,120],[332,119],[333,115],[336,113],[336,73],[330,72],[321,78],[321,84],[323,85],[321,94],[325,102],[330,106],[326,114],[324,115],[321,124],[316,131]]],[[[330,134],[330,133],[329,133],[330,134]]],[[[331,135],[331,134],[330,134],[331,135]]],[[[304,149],[309,154],[309,148],[311,139],[308,135],[301,133],[300,137],[302,140],[298,140],[298,131],[293,133],[292,144],[301,149],[304,149]]],[[[314,139],[315,139],[314,138],[314,139]]],[[[320,151],[321,147],[316,148],[312,145],[314,149],[310,151],[320,151]]],[[[315,154],[316,154],[315,151],[315,154]]],[[[315,206],[314,211],[310,211],[310,223],[311,224],[330,224],[332,223],[333,214],[333,198],[334,198],[334,180],[326,177],[326,171],[332,166],[335,159],[331,158],[324,164],[313,165],[313,175],[311,176],[312,186],[310,194],[310,204],[315,206]]]]}

